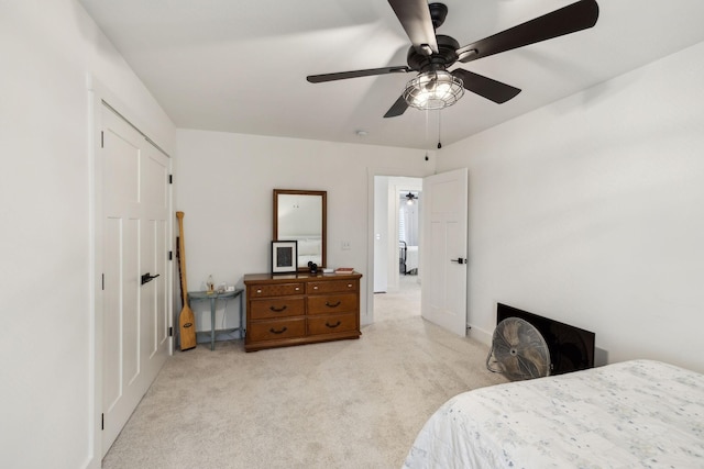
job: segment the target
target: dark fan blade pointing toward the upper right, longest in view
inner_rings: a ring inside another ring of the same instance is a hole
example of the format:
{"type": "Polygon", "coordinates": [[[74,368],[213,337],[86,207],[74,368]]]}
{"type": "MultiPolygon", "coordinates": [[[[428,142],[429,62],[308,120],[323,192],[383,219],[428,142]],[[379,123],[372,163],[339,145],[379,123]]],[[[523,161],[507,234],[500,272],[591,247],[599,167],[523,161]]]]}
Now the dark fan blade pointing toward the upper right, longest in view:
{"type": "Polygon", "coordinates": [[[594,0],[581,0],[551,13],[538,16],[482,41],[460,47],[459,60],[468,63],[477,58],[586,30],[596,24],[598,4],[594,0]]]}

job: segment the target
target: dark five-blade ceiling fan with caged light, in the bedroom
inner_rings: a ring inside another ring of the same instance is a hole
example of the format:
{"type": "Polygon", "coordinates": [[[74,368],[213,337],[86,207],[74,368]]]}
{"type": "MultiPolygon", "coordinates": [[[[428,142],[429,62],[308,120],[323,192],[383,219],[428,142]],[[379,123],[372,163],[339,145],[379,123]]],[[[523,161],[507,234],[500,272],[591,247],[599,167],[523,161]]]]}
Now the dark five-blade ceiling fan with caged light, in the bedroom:
{"type": "Polygon", "coordinates": [[[427,0],[388,0],[388,3],[413,43],[408,49],[407,66],[306,77],[311,83],[320,83],[375,75],[417,72],[416,78],[408,82],[403,94],[384,118],[402,115],[409,105],[418,109],[442,109],[452,105],[465,89],[496,103],[504,103],[516,97],[520,90],[473,71],[462,68],[449,71],[448,68],[457,62],[468,63],[586,30],[594,26],[598,19],[596,1],[580,0],[461,47],[453,37],[436,34],[436,30],[448,15],[448,7],[443,3],[428,4],[427,0]]]}

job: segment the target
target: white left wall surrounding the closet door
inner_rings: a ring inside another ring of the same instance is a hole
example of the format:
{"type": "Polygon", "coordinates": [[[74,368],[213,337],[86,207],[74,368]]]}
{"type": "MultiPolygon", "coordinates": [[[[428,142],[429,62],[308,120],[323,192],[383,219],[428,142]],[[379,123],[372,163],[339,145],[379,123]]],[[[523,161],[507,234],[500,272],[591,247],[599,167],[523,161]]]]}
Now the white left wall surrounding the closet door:
{"type": "Polygon", "coordinates": [[[99,467],[87,76],[164,148],[175,129],[73,0],[1,2],[0,70],[1,465],[99,467]]]}

